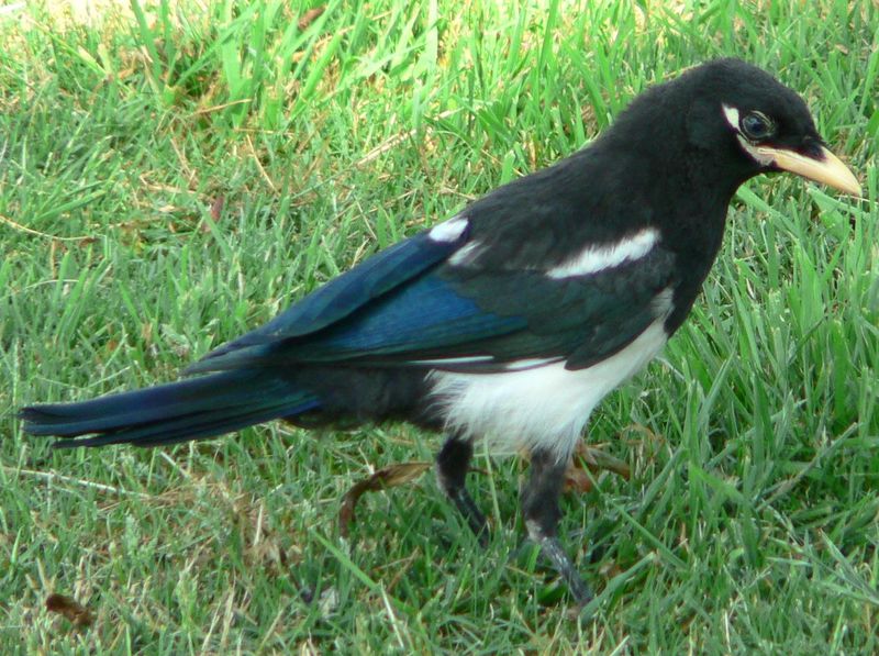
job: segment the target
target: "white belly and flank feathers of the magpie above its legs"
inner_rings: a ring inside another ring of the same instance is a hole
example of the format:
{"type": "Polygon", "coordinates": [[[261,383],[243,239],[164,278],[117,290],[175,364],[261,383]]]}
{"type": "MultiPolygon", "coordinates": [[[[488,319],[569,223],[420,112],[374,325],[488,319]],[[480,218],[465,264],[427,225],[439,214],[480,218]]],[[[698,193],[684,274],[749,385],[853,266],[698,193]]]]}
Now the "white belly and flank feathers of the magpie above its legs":
{"type": "Polygon", "coordinates": [[[487,440],[497,453],[541,447],[565,460],[599,401],[663,348],[663,323],[657,319],[623,351],[587,369],[569,371],[556,362],[502,374],[434,371],[432,393],[448,431],[487,440]]]}

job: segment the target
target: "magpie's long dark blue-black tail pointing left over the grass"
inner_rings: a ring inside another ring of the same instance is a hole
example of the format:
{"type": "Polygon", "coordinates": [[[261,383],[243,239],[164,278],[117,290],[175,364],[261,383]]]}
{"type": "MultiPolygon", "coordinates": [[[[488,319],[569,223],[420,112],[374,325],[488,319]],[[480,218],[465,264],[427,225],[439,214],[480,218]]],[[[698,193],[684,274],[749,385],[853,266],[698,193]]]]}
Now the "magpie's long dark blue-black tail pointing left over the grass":
{"type": "Polygon", "coordinates": [[[307,412],[318,398],[265,370],[223,371],[109,394],[80,403],[21,410],[24,431],[57,435],[56,447],[176,444],[307,412]],[[71,440],[78,435],[91,437],[71,440]]]}

